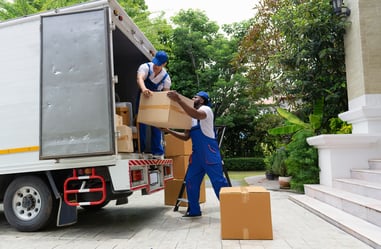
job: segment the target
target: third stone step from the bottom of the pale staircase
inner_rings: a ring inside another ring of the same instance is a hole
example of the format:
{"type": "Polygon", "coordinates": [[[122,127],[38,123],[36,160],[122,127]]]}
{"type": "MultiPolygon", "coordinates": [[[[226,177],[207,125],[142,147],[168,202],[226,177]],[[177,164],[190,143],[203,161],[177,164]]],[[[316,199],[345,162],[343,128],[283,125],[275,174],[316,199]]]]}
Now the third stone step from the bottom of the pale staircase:
{"type": "MultiPolygon", "coordinates": [[[[380,181],[381,182],[381,181],[380,181]]],[[[359,179],[335,179],[333,187],[350,193],[381,200],[381,183],[359,179]]]]}

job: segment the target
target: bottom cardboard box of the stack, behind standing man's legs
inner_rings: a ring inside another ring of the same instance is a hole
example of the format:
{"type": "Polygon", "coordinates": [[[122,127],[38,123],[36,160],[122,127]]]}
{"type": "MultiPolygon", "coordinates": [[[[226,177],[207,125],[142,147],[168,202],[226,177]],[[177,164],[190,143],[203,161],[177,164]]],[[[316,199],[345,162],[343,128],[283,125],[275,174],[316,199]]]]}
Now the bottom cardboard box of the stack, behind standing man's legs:
{"type": "MultiPolygon", "coordinates": [[[[177,197],[179,196],[181,186],[184,182],[184,179],[173,179],[165,182],[164,189],[164,204],[169,206],[175,206],[177,197]]],[[[187,198],[186,189],[184,189],[183,197],[187,198]]],[[[205,180],[202,181],[200,187],[200,203],[204,203],[206,201],[206,189],[205,189],[205,180]]],[[[180,202],[181,207],[188,207],[187,202],[180,202]]]]}

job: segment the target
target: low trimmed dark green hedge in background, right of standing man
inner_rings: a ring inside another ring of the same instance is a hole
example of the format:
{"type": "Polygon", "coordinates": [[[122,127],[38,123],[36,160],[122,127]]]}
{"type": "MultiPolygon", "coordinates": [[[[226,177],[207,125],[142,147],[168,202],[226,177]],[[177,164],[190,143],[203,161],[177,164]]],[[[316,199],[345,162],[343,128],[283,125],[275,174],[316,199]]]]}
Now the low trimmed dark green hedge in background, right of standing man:
{"type": "Polygon", "coordinates": [[[224,158],[224,165],[231,171],[260,171],[265,170],[263,158],[238,157],[224,158]]]}

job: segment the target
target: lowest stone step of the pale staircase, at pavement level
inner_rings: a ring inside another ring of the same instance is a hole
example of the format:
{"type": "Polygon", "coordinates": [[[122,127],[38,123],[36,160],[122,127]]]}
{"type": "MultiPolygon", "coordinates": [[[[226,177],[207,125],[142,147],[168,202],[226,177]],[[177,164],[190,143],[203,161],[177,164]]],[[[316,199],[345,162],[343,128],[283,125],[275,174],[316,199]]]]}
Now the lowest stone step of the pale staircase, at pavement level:
{"type": "Polygon", "coordinates": [[[381,249],[381,228],[379,226],[307,195],[291,195],[289,199],[369,246],[381,249]]]}

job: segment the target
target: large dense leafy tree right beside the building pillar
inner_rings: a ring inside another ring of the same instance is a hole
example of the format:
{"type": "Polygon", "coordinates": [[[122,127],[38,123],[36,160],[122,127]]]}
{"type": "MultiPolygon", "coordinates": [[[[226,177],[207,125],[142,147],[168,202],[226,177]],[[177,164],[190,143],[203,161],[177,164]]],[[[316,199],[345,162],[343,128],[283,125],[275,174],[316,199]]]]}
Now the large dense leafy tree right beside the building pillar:
{"type": "Polygon", "coordinates": [[[327,1],[284,0],[273,16],[282,37],[273,63],[281,71],[275,85],[289,104],[304,113],[324,98],[323,126],[347,109],[344,42],[345,22],[327,1]]]}

